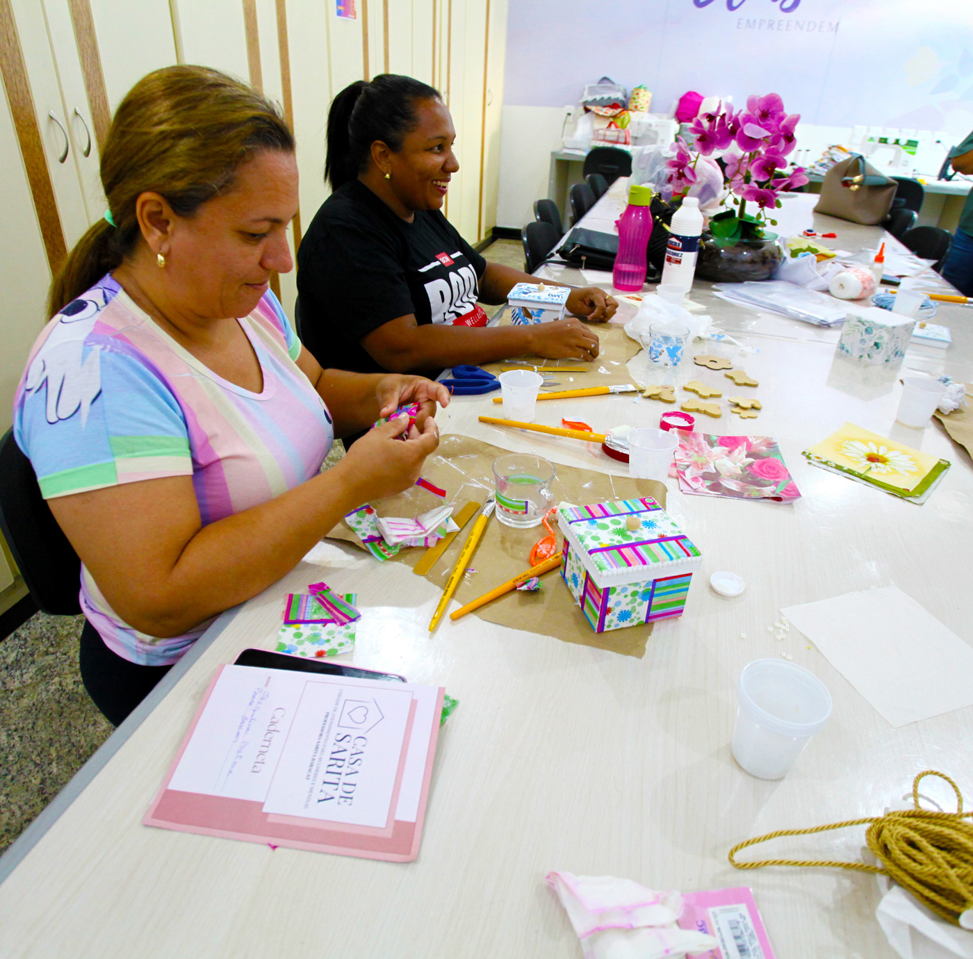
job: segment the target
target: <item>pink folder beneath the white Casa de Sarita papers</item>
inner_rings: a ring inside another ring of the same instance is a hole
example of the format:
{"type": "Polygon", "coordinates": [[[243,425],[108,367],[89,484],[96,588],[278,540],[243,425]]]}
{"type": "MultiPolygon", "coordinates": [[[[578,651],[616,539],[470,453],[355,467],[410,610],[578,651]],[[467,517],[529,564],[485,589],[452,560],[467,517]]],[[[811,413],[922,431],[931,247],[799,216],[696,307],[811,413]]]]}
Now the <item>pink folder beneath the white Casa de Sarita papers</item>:
{"type": "Polygon", "coordinates": [[[432,731],[429,736],[422,778],[422,790],[414,822],[404,822],[394,818],[402,786],[406,756],[413,735],[415,702],[409,714],[409,722],[399,758],[395,787],[389,803],[389,816],[383,828],[352,826],[332,823],[300,816],[283,816],[264,812],[262,801],[248,799],[228,799],[220,796],[207,796],[201,793],[188,793],[169,789],[176,766],[179,764],[199,717],[206,708],[213,688],[225,667],[221,666],[206,691],[193,724],[183,739],[175,759],[165,776],[165,782],[149,811],[142,820],[146,826],[177,830],[181,833],[199,835],[218,835],[228,839],[242,839],[245,842],[266,842],[270,846],[289,846],[293,849],[308,849],[315,852],[330,852],[341,856],[358,856],[363,859],[384,859],[393,863],[409,863],[418,855],[419,840],[422,835],[422,822],[425,817],[426,800],[429,795],[429,782],[432,777],[432,764],[436,755],[436,741],[439,736],[439,720],[443,712],[445,690],[440,687],[437,693],[433,715],[432,731]]]}

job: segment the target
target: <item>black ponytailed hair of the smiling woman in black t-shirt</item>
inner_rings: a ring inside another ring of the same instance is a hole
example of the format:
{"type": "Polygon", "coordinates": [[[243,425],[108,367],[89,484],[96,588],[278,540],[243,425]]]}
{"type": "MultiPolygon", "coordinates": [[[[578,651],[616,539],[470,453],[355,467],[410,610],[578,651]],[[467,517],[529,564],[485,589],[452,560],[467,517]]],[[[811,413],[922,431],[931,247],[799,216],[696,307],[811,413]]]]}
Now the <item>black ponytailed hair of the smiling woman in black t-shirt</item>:
{"type": "Polygon", "coordinates": [[[337,190],[368,167],[372,144],[381,140],[398,153],[414,128],[418,100],[441,99],[439,90],[395,73],[372,83],[356,80],[342,89],[328,111],[328,152],[324,176],[337,190]]]}

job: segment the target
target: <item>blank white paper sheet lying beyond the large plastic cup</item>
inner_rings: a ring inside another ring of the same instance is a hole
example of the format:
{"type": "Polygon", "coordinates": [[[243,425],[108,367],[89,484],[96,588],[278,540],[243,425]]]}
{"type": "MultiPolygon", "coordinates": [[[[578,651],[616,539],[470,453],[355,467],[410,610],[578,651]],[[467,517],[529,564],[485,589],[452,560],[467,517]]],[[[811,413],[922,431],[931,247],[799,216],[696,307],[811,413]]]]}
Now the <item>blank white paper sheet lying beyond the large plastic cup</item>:
{"type": "Polygon", "coordinates": [[[973,647],[896,586],[780,612],[894,727],[973,705],[973,647]]]}

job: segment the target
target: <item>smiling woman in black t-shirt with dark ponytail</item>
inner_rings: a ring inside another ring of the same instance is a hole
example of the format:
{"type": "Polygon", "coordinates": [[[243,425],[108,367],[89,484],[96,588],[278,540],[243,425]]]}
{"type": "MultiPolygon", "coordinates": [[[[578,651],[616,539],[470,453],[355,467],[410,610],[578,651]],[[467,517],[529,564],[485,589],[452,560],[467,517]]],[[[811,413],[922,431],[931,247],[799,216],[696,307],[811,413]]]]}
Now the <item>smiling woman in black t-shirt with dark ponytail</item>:
{"type": "MultiPolygon", "coordinates": [[[[576,319],[486,328],[478,300],[501,303],[515,283],[536,281],[487,263],[440,212],[459,169],[454,139],[439,93],[411,77],[383,74],[335,97],[325,161],[334,193],[298,251],[306,347],[361,373],[436,373],[523,353],[594,360],[598,337],[576,319]]],[[[596,287],[567,300],[590,320],[617,308],[596,287]]]]}

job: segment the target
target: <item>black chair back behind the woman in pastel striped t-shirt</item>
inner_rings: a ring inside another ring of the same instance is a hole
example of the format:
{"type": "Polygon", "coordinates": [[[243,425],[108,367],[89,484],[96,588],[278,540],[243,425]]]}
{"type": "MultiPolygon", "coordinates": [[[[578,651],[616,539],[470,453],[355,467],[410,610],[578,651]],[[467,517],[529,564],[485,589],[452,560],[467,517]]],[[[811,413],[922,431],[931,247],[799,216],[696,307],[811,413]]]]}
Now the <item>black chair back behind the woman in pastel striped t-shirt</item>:
{"type": "Polygon", "coordinates": [[[77,616],[81,560],[44,502],[13,430],[0,440],[0,530],[38,608],[77,616]]]}

